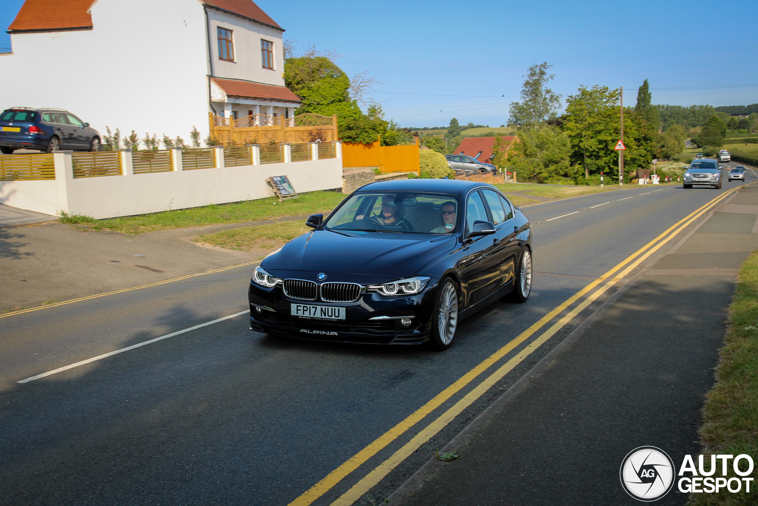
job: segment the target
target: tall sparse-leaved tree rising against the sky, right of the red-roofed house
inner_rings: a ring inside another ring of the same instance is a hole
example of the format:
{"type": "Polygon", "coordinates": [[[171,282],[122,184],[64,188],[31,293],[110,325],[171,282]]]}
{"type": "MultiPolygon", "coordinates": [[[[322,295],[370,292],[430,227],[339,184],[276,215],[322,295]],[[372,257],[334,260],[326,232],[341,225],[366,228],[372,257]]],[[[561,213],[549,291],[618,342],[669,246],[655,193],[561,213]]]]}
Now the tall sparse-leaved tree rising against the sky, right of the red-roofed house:
{"type": "Polygon", "coordinates": [[[511,102],[509,125],[534,126],[555,118],[561,101],[558,95],[547,87],[547,82],[555,77],[555,74],[547,74],[547,69],[552,66],[543,61],[529,68],[522,85],[522,101],[511,102]]]}

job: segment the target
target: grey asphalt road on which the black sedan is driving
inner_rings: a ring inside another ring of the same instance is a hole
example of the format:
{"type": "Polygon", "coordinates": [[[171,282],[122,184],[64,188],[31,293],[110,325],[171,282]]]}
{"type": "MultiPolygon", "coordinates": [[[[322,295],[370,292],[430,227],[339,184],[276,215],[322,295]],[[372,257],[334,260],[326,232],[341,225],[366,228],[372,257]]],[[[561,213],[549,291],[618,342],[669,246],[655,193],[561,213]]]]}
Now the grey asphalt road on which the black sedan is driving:
{"type": "MultiPolygon", "coordinates": [[[[750,172],[747,182],[756,179],[750,172]]],[[[526,208],[543,273],[531,300],[467,319],[444,353],[272,338],[250,332],[241,315],[17,383],[244,311],[252,266],[2,318],[0,503],[289,504],[590,280],[738,185],[631,187],[526,208]]],[[[313,504],[330,504],[411,435],[313,504]]],[[[388,483],[427,458],[409,459],[388,483]]]]}

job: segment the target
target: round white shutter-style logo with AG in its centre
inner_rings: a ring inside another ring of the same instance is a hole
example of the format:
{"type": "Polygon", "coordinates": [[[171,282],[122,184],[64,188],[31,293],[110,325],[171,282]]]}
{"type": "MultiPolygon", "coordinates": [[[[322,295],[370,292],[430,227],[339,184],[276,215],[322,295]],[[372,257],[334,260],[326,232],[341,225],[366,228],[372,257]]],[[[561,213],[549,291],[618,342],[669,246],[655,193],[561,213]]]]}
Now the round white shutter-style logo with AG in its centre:
{"type": "Polygon", "coordinates": [[[621,484],[638,501],[657,501],[674,486],[674,462],[669,455],[654,446],[634,448],[622,460],[621,484]]]}

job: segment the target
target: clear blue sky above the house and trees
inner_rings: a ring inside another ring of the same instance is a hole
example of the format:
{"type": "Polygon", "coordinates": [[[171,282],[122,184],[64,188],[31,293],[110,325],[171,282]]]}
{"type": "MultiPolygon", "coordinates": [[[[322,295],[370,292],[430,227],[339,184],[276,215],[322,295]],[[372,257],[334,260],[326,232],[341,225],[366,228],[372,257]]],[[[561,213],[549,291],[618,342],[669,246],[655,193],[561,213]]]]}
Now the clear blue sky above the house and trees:
{"type": "MultiPolygon", "coordinates": [[[[3,27],[22,3],[0,0],[3,27]]],[[[384,83],[374,99],[401,126],[441,126],[453,116],[505,124],[522,75],[542,61],[553,64],[556,93],[624,86],[625,104],[634,105],[647,78],[654,103],[758,102],[758,86],[655,90],[758,84],[758,41],[743,22],[756,19],[754,0],[257,3],[296,49],[334,49],[348,74],[374,74],[384,83]]],[[[8,45],[3,33],[0,46],[8,45]]]]}

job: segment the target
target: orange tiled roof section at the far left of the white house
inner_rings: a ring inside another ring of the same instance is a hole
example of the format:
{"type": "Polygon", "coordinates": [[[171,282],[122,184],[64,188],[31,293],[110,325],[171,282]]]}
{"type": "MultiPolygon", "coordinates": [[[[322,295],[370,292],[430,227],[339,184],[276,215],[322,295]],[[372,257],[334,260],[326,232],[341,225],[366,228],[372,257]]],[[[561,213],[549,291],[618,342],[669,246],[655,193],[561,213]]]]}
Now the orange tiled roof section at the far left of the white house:
{"type": "Polygon", "coordinates": [[[89,8],[95,0],[27,0],[8,32],[91,30],[89,8]]]}

